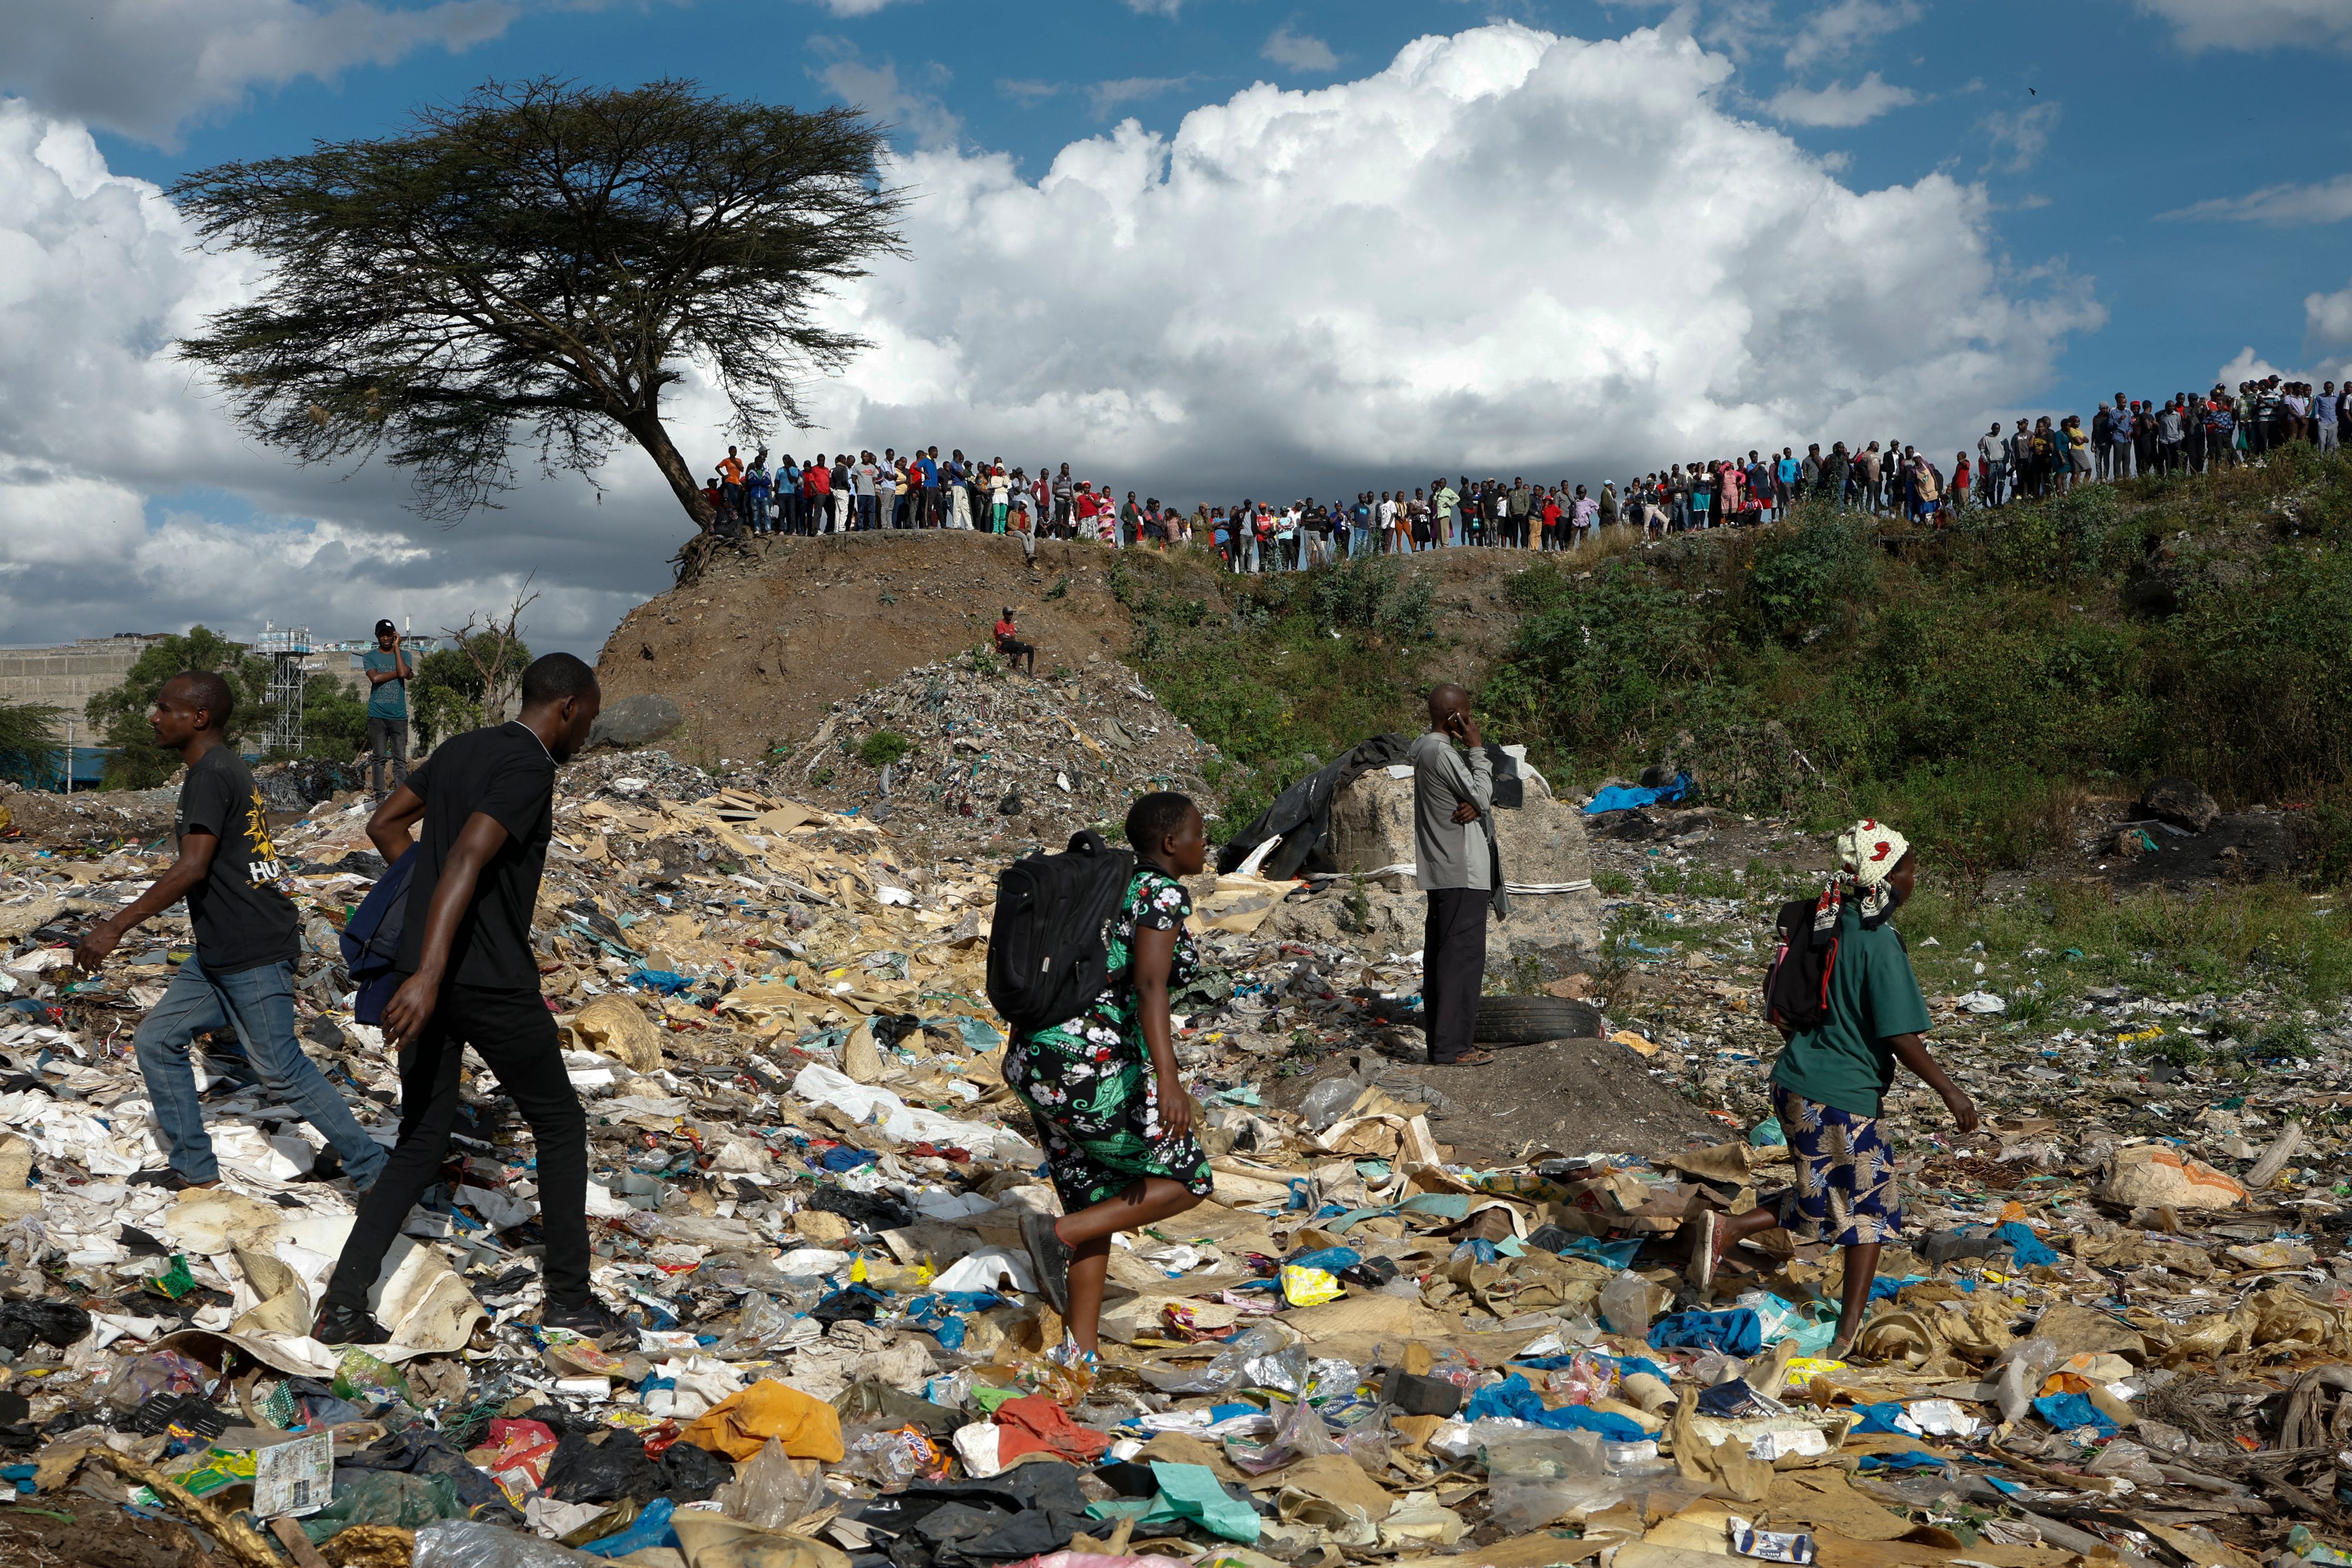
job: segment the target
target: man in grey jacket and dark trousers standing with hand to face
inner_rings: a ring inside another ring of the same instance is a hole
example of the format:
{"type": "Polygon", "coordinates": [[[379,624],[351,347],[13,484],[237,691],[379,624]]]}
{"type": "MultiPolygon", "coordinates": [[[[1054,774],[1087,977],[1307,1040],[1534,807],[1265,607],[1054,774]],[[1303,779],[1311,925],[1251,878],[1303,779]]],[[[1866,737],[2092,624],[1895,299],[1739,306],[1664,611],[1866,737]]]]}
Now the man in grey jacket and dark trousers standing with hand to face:
{"type": "Polygon", "coordinates": [[[1479,1065],[1470,1046],[1477,992],[1486,978],[1486,903],[1494,858],[1484,816],[1494,806],[1494,764],[1461,686],[1430,691],[1430,731],[1414,741],[1414,882],[1430,896],[1421,936],[1421,1027],[1430,1063],[1479,1065]],[[1468,750],[1454,750],[1461,741],[1468,750]]]}

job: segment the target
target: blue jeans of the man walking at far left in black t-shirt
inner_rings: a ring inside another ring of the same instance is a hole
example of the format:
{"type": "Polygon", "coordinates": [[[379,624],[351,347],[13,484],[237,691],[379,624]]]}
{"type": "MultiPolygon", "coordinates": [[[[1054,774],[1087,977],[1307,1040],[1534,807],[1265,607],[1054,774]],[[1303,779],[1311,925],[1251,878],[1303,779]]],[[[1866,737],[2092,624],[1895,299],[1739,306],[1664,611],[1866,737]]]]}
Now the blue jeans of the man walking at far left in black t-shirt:
{"type": "Polygon", "coordinates": [[[343,1157],[350,1185],[367,1190],[383,1171],[386,1152],[360,1126],[343,1095],[294,1039],[294,964],[263,964],[233,976],[207,976],[191,952],[143,1020],[139,1020],[139,1072],[155,1105],[155,1131],[169,1147],[172,1168],[191,1182],[221,1175],[205,1133],[205,1107],[195,1098],[188,1041],[207,1030],[235,1027],[245,1056],[268,1088],[303,1121],[325,1133],[343,1157]]]}

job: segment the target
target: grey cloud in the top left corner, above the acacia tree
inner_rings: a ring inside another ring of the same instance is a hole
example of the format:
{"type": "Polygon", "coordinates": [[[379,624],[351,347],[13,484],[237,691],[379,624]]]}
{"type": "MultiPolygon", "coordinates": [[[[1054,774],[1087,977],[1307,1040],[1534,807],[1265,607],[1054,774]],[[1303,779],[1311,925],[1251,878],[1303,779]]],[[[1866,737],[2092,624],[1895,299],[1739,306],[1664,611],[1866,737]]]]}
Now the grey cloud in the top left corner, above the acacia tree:
{"type": "Polygon", "coordinates": [[[106,129],[169,143],[191,118],[254,85],[332,80],[419,47],[496,38],[520,0],[423,7],[303,0],[0,0],[0,92],[106,129]]]}

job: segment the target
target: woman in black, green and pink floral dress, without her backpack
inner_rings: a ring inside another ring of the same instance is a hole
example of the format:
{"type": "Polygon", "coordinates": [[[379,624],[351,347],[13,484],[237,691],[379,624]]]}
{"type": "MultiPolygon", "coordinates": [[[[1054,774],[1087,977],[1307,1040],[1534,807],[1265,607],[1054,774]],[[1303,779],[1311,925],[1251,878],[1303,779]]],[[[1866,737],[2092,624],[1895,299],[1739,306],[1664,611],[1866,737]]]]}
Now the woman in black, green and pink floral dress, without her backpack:
{"type": "Polygon", "coordinates": [[[1185,795],[1145,795],[1127,813],[1136,872],[1110,929],[1110,985],[1084,1013],[1014,1039],[1004,1084],[1037,1124],[1061,1220],[1021,1222],[1037,1286],[1080,1352],[1096,1352],[1110,1237],[1178,1215],[1209,1197],[1209,1157],[1192,1138],[1192,1100],[1176,1074],[1169,992],[1200,954],[1183,929],[1209,844],[1185,795]]]}

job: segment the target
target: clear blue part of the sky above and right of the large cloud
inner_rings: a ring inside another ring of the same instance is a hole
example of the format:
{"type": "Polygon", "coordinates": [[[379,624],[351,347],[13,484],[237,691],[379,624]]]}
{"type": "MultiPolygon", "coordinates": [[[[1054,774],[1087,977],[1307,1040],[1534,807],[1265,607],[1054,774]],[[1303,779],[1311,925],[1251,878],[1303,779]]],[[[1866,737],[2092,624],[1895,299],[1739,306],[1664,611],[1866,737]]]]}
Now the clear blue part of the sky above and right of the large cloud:
{"type": "MultiPolygon", "coordinates": [[[[1860,188],[1929,172],[1985,181],[2002,207],[1999,240],[2018,266],[2058,259],[2093,282],[2107,324],[2072,336],[2056,386],[2020,395],[2072,404],[2114,390],[2171,393],[2246,346],[2277,364],[2300,362],[2305,296],[2352,282],[2343,219],[2166,216],[2352,174],[2352,118],[2331,108],[2352,63],[2352,33],[2331,31],[2317,7],[2300,26],[2225,26],[2249,42],[2281,40],[2244,49],[2190,47],[2161,14],[2122,0],[1684,14],[1738,61],[1731,96],[1745,113],[1771,118],[1766,106],[1783,89],[1853,87],[1870,75],[1912,94],[1917,101],[1858,127],[1773,122],[1846,160],[1844,179],[1860,188]]],[[[118,172],[162,183],[310,139],[381,134],[414,103],[487,78],[687,75],[715,92],[802,108],[851,89],[851,101],[898,122],[908,143],[953,118],[948,134],[962,146],[1011,153],[1037,176],[1068,141],[1117,120],[1174,132],[1192,106],[1251,82],[1319,87],[1383,66],[1423,33],[1496,16],[1609,38],[1675,9],[1573,0],[654,0],[522,9],[499,35],[459,49],[419,47],[390,68],[249,89],[183,125],[179,146],[103,132],[99,146],[118,172]]],[[[2352,197],[2340,212],[2352,216],[2352,197]]]]}

